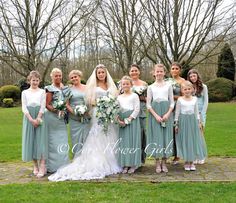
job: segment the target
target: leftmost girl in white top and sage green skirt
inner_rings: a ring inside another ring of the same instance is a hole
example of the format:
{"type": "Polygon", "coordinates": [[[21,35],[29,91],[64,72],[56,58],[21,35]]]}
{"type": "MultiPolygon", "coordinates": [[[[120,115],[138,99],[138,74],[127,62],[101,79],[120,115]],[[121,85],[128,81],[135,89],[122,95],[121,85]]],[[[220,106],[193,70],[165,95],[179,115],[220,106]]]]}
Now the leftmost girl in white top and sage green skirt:
{"type": "Polygon", "coordinates": [[[22,92],[22,111],[24,113],[22,129],[22,159],[23,161],[34,162],[33,173],[38,178],[46,173],[45,159],[46,135],[43,123],[46,95],[40,89],[40,74],[38,71],[31,71],[28,76],[30,88],[22,92]]]}

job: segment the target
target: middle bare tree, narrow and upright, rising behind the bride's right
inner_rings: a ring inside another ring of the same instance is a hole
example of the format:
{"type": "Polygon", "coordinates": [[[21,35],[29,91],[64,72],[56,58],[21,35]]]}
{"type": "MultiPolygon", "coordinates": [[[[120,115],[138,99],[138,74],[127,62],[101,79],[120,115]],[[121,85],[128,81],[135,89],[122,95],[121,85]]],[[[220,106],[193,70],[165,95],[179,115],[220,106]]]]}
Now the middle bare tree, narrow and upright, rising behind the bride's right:
{"type": "Polygon", "coordinates": [[[138,0],[104,0],[100,4],[99,18],[107,49],[112,50],[110,60],[127,73],[132,63],[141,63],[145,57],[139,51],[138,40],[143,9],[138,0]]]}

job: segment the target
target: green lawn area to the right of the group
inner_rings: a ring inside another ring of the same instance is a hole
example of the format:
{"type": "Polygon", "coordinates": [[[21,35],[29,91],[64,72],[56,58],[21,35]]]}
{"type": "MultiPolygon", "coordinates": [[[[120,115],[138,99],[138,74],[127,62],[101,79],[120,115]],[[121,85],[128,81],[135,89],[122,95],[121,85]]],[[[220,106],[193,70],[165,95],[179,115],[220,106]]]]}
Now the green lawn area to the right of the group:
{"type": "Polygon", "coordinates": [[[236,156],[236,103],[209,105],[205,137],[210,156],[236,156]]]}

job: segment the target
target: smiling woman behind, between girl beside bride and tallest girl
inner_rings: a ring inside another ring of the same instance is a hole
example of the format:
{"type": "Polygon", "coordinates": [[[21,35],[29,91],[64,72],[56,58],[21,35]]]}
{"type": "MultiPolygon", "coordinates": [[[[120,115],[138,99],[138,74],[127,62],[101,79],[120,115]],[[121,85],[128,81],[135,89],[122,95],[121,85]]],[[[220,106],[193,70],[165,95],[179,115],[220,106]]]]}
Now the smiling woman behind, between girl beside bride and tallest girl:
{"type": "Polygon", "coordinates": [[[140,80],[140,68],[136,64],[132,64],[129,70],[129,75],[133,82],[132,91],[138,93],[140,100],[140,112],[139,112],[139,121],[141,126],[141,148],[142,148],[142,163],[145,163],[146,153],[146,92],[147,92],[147,83],[143,80],[140,80]]]}

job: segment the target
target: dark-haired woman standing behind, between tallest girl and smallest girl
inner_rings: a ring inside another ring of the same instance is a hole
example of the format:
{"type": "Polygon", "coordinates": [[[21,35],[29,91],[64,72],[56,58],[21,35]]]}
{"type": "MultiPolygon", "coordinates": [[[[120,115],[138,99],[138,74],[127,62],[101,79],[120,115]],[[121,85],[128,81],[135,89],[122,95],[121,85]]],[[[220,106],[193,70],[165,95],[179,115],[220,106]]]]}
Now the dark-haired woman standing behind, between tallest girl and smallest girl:
{"type": "MultiPolygon", "coordinates": [[[[184,78],[182,78],[180,76],[181,74],[181,65],[178,63],[178,62],[173,62],[171,64],[171,69],[170,69],[170,74],[171,74],[171,77],[173,79],[173,84],[172,84],[172,87],[173,87],[173,94],[174,94],[174,100],[175,102],[178,100],[178,98],[181,96],[181,88],[180,88],[180,85],[182,82],[185,81],[184,78]]],[[[173,111],[174,113],[174,111],[173,111]]],[[[174,159],[173,159],[173,164],[176,165],[179,163],[179,157],[177,156],[177,149],[176,149],[176,135],[175,135],[175,130],[174,130],[174,133],[173,133],[173,155],[174,155],[174,159]]]]}

